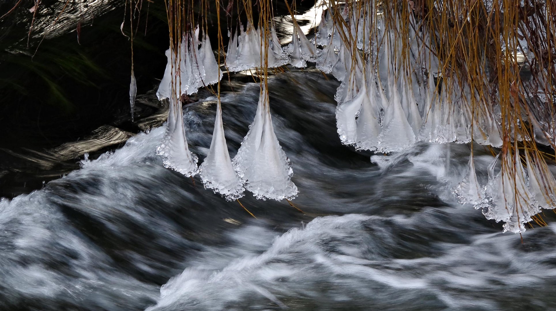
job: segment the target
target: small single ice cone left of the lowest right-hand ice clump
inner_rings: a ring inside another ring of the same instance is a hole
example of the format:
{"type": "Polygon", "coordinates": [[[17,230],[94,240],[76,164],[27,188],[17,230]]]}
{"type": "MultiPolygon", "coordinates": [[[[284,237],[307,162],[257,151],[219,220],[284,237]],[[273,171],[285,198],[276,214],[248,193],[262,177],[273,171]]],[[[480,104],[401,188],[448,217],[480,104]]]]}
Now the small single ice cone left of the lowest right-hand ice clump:
{"type": "Polygon", "coordinates": [[[488,205],[488,200],[486,199],[484,189],[477,180],[475,164],[473,163],[473,152],[469,155],[467,166],[467,174],[458,186],[452,189],[452,192],[458,197],[459,203],[469,203],[473,205],[475,209],[484,208],[488,205]]]}

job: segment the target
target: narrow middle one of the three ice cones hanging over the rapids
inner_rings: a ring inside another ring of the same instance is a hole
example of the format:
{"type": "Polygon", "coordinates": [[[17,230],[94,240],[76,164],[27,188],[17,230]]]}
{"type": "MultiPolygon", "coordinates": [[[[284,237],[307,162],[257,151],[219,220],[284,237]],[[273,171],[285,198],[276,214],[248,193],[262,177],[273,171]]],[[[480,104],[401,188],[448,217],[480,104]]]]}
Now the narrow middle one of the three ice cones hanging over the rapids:
{"type": "Polygon", "coordinates": [[[244,196],[243,183],[232,166],[226,146],[220,101],[216,107],[216,119],[209,153],[199,167],[199,175],[205,189],[213,189],[226,200],[237,200],[244,196]]]}

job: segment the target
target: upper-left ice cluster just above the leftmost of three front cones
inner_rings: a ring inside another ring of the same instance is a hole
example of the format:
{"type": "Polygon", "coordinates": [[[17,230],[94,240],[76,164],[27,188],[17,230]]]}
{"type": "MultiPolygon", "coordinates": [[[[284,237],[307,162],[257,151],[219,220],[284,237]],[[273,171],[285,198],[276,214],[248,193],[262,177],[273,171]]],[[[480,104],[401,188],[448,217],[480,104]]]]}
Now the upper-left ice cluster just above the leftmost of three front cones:
{"type": "Polygon", "coordinates": [[[175,90],[176,98],[185,94],[194,94],[200,87],[217,83],[219,77],[222,78],[208,34],[205,32],[202,42],[198,41],[198,34],[199,31],[196,28],[192,33],[183,36],[180,43],[179,62],[176,62],[172,49],[166,51],[168,62],[156,92],[158,99],[170,98],[172,77],[175,77],[177,73],[180,75],[181,84],[175,90]],[[199,44],[201,44],[201,48],[198,48],[199,44]]]}

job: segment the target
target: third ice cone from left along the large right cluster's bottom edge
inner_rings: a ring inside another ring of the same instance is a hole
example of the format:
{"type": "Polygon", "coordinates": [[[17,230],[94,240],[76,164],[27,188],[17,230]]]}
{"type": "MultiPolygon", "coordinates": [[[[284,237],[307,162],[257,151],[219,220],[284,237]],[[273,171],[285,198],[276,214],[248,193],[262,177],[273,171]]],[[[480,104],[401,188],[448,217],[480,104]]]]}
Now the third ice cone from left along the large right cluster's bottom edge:
{"type": "Polygon", "coordinates": [[[390,100],[384,114],[383,128],[379,135],[380,152],[396,152],[415,143],[415,133],[401,108],[398,89],[390,81],[390,100]]]}

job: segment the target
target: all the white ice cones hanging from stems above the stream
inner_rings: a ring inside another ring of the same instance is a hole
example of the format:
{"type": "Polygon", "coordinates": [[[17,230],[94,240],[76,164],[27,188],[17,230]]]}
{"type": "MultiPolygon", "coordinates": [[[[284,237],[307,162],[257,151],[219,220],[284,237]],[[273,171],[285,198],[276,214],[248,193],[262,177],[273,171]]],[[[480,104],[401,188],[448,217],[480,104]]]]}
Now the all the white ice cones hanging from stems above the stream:
{"type": "MultiPolygon", "coordinates": [[[[274,26],[270,29],[256,29],[251,24],[246,29],[241,26],[230,38],[226,67],[234,72],[285,64],[302,68],[313,62],[320,71],[331,73],[341,81],[335,96],[337,132],[342,143],[356,149],[398,152],[419,141],[474,141],[485,146],[502,146],[499,108],[481,105],[483,108],[473,109],[469,103],[480,102],[479,94],[456,83],[443,83],[442,87],[439,81],[448,78],[439,76],[438,59],[426,45],[410,39],[410,57],[404,58],[401,48],[397,48],[404,46],[400,36],[395,35],[391,25],[386,29],[381,18],[376,18],[373,24],[370,14],[344,10],[341,16],[345,23],[339,26],[332,21],[331,14],[325,16],[323,12],[312,40],[294,21],[291,43],[284,48],[274,26]],[[338,27],[343,28],[341,32],[338,27]],[[344,38],[340,39],[341,36],[344,38]],[[262,38],[268,42],[261,42],[262,38]],[[376,42],[381,42],[380,46],[376,42]]],[[[411,29],[409,32],[416,37],[411,29]]],[[[170,97],[173,103],[167,133],[158,148],[166,167],[188,176],[199,172],[206,188],[227,199],[241,197],[245,189],[257,198],[294,198],[297,188],[291,182],[291,164],[274,134],[264,87],[255,120],[233,160],[227,152],[218,104],[210,152],[197,170],[197,158],[188,152],[185,141],[181,104],[173,98],[215,83],[221,75],[206,35],[202,43],[197,41],[197,32],[184,38],[181,54],[180,67],[185,70],[177,75],[182,81],[181,88],[176,88],[180,91],[170,96],[171,75],[176,74],[172,63],[176,60],[168,51],[168,66],[157,93],[159,98],[170,97]],[[178,151],[172,154],[173,150],[178,151]],[[183,150],[187,152],[184,154],[183,150]]],[[[527,168],[523,168],[517,151],[513,153],[515,161],[510,154],[504,153],[497,175],[496,161],[491,165],[486,185],[478,183],[471,156],[469,172],[453,192],[461,203],[482,208],[488,219],[505,222],[505,230],[523,232],[524,223],[530,222],[540,208],[556,207],[556,198],[551,194],[556,191],[556,181],[542,157],[532,160],[525,153],[527,168]]]]}

